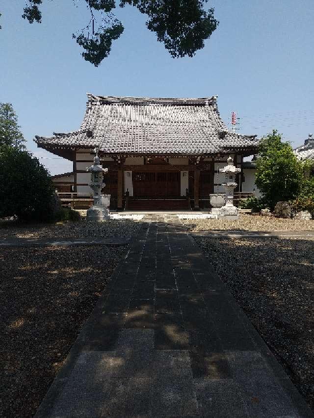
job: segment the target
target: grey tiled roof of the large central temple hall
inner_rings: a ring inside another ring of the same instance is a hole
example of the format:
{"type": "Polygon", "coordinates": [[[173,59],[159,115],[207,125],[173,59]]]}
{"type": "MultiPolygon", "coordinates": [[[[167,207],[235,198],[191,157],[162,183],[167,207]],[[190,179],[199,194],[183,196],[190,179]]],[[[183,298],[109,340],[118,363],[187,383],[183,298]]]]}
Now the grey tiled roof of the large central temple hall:
{"type": "Polygon", "coordinates": [[[131,98],[87,95],[80,129],[36,136],[42,148],[94,148],[104,154],[183,154],[257,150],[254,136],[231,133],[217,97],[131,98]]]}

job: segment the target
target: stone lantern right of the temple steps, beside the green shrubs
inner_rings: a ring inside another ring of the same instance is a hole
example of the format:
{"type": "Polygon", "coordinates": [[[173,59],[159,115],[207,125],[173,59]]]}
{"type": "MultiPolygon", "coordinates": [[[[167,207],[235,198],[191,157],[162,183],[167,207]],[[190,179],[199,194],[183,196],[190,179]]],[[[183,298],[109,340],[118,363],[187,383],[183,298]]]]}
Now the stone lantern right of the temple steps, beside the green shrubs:
{"type": "Polygon", "coordinates": [[[237,186],[235,183],[235,175],[238,174],[241,169],[235,167],[234,160],[229,157],[227,160],[228,165],[223,169],[219,169],[219,172],[225,173],[226,182],[222,183],[222,186],[226,190],[226,204],[220,208],[218,219],[239,219],[238,209],[234,206],[234,190],[237,186]]]}

